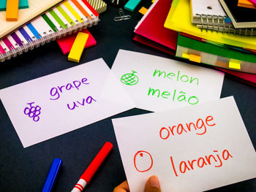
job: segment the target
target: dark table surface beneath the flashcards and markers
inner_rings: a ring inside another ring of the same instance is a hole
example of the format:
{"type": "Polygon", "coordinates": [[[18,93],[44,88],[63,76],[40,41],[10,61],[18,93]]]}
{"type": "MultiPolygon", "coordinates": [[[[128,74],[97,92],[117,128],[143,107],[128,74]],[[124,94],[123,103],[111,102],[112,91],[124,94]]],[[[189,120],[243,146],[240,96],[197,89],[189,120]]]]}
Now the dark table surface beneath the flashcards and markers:
{"type": "MultiPolygon", "coordinates": [[[[125,11],[132,15],[132,19],[121,22],[113,21],[113,18],[118,16],[118,9],[108,5],[108,10],[99,15],[101,21],[98,25],[89,28],[97,40],[97,45],[85,50],[80,64],[103,58],[111,67],[119,49],[173,58],[132,40],[134,28],[142,17],[138,9],[141,6],[149,7],[150,2],[143,0],[135,12],[125,11]]],[[[10,61],[0,63],[0,89],[77,65],[79,64],[67,61],[67,55],[62,55],[56,42],[50,42],[10,61]]],[[[256,147],[256,88],[225,76],[221,97],[226,96],[234,96],[236,99],[249,137],[256,147]]],[[[146,111],[134,109],[112,118],[143,113],[146,111]]],[[[111,118],[23,148],[0,102],[0,191],[41,191],[54,158],[61,158],[63,164],[52,191],[71,191],[80,175],[107,141],[113,143],[113,150],[91,183],[86,186],[86,191],[113,191],[116,185],[126,180],[111,118]]],[[[256,191],[256,179],[212,191],[256,191]]]]}

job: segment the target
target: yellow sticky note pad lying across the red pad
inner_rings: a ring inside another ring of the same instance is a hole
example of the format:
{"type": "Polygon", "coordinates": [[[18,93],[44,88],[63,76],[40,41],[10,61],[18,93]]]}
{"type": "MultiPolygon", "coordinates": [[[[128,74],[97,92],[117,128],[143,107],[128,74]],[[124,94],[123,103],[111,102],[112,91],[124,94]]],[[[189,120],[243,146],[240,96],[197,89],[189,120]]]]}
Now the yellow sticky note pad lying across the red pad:
{"type": "Polygon", "coordinates": [[[83,32],[78,32],[77,37],[75,37],[75,42],[72,45],[70,50],[68,60],[79,63],[80,57],[83,53],[84,46],[86,45],[86,41],[89,37],[89,34],[85,34],[83,32]]]}

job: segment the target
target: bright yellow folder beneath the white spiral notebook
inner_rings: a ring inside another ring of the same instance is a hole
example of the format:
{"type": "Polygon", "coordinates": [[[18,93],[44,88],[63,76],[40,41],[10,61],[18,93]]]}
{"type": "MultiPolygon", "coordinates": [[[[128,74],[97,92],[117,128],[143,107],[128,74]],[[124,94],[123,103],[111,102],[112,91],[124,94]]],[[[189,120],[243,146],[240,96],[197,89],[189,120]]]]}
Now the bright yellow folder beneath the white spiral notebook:
{"type": "Polygon", "coordinates": [[[165,28],[181,31],[219,44],[256,50],[256,37],[247,37],[238,34],[228,34],[209,30],[201,31],[200,28],[197,28],[197,26],[191,23],[189,0],[173,0],[172,7],[165,20],[165,28]]]}

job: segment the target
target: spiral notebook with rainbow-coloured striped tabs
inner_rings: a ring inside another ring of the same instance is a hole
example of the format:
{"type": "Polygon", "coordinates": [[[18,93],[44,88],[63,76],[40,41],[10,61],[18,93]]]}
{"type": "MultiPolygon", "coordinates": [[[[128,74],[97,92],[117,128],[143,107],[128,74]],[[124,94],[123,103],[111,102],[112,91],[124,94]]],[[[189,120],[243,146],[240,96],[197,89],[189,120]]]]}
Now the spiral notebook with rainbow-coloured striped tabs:
{"type": "Polygon", "coordinates": [[[72,34],[87,26],[97,25],[99,14],[86,0],[67,0],[39,16],[26,26],[0,40],[0,61],[5,61],[72,34]]]}

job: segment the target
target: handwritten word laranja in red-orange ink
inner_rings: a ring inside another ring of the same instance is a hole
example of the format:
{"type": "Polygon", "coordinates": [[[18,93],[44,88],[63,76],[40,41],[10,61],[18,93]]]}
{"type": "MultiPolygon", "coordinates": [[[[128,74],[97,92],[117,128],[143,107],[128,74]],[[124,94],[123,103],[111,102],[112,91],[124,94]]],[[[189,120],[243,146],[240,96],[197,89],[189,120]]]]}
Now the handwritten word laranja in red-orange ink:
{"type": "Polygon", "coordinates": [[[223,165],[224,161],[227,161],[229,158],[233,158],[228,150],[223,150],[222,155],[218,154],[218,150],[213,150],[213,152],[213,154],[205,155],[197,159],[181,161],[178,163],[178,166],[176,166],[176,164],[174,163],[173,156],[170,156],[170,161],[174,174],[176,175],[176,177],[178,177],[178,171],[181,174],[185,174],[186,172],[192,171],[197,167],[203,168],[204,166],[214,166],[218,168],[223,165]]]}

